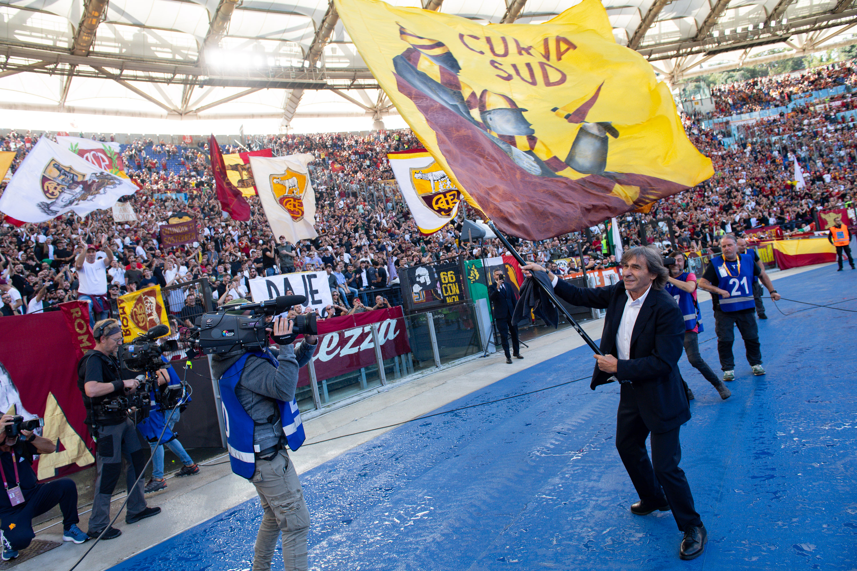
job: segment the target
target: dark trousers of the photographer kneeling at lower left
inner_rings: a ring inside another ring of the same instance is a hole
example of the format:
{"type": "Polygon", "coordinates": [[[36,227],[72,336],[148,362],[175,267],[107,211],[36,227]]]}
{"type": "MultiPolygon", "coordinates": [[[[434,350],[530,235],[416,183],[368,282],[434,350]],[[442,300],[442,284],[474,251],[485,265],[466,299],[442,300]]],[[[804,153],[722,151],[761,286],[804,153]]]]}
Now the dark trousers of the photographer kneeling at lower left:
{"type": "Polygon", "coordinates": [[[55,505],[63,512],[63,529],[80,521],[77,517],[77,485],[69,478],[36,485],[36,490],[27,502],[9,508],[0,514],[3,520],[3,537],[12,549],[22,550],[33,541],[33,518],[44,514],[55,505]]]}

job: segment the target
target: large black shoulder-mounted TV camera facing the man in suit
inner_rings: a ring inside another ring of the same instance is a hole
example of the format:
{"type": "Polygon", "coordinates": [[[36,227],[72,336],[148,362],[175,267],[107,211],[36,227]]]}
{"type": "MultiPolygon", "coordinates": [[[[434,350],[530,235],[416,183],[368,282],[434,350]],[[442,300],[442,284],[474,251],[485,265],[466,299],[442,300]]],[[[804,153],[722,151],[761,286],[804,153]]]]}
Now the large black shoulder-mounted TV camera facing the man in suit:
{"type": "MultiPolygon", "coordinates": [[[[306,300],[303,295],[280,295],[261,303],[223,306],[215,313],[203,313],[196,318],[196,327],[191,335],[204,354],[264,350],[268,345],[265,328],[270,326],[273,316],[285,313],[291,306],[303,304],[306,300]]],[[[291,335],[277,337],[275,341],[285,344],[293,342],[298,335],[318,335],[315,318],[315,312],[296,316],[291,335]]]]}

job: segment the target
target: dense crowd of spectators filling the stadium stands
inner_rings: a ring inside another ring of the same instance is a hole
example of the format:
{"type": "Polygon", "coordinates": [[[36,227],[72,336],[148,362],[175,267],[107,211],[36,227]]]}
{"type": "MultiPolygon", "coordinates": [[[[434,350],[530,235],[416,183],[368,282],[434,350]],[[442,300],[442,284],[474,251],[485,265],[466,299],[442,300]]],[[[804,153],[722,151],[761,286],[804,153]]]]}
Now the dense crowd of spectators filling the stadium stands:
{"type": "MultiPolygon", "coordinates": [[[[850,62],[788,78],[726,86],[718,97],[731,99],[729,105],[733,106],[734,102],[775,104],[788,98],[788,93],[842,81],[854,82],[850,62]]],[[[850,98],[845,102],[852,104],[850,98]]],[[[716,241],[724,233],[740,234],[769,225],[779,225],[786,232],[812,229],[818,210],[852,204],[857,162],[853,118],[845,121],[830,110],[800,107],[788,116],[742,128],[739,140],[724,140],[722,133],[704,128],[701,118],[685,117],[684,122],[693,144],[712,159],[715,175],[661,200],[648,213],[621,217],[620,234],[626,247],[648,243],[663,251],[680,249],[704,256],[717,252],[716,241]],[[805,187],[794,181],[795,158],[805,187]]],[[[38,134],[14,131],[3,137],[0,148],[17,152],[12,171],[38,138],[38,134]]],[[[271,135],[253,142],[256,148],[272,148],[274,155],[315,155],[310,174],[316,193],[318,238],[296,245],[283,243],[279,236],[271,235],[256,197],[249,198],[248,222],[224,217],[214,196],[205,144],[137,140],[122,149],[126,172],[141,187],[127,197],[137,214],[136,222],[116,223],[111,211],[94,211],[83,220],[69,214],[20,228],[9,223],[0,226],[0,312],[37,312],[77,299],[80,280],[75,259],[87,245],[99,250],[99,258],[112,257],[107,271],[111,298],[156,283],[167,287],[207,280],[213,301],[222,304],[249,299],[249,280],[255,277],[329,268],[330,283],[341,301],[331,314],[365,311],[383,303],[398,288],[402,267],[459,255],[474,258],[503,253],[499,241],[489,243],[484,251],[459,244],[453,226],[431,236],[419,234],[390,181],[393,175],[386,158],[387,152],[419,146],[410,131],[380,131],[369,136],[271,135]],[[184,214],[197,221],[200,240],[162,249],[159,225],[184,214]]],[[[225,153],[243,150],[222,146],[225,153]]],[[[572,274],[583,267],[594,270],[616,265],[605,235],[601,224],[552,240],[520,241],[518,248],[539,262],[567,259],[559,269],[572,274]]],[[[182,322],[189,323],[202,311],[197,285],[170,294],[168,300],[174,318],[182,322]]]]}

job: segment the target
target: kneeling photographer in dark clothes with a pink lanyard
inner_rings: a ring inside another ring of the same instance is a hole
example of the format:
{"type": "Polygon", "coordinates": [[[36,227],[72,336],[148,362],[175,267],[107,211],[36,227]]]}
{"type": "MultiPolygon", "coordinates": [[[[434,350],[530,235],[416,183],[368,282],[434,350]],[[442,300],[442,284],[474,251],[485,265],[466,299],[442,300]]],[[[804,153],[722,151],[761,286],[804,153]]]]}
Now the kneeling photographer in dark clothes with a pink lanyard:
{"type": "MultiPolygon", "coordinates": [[[[18,417],[21,419],[21,417],[18,417]]],[[[0,497],[0,537],[3,538],[3,561],[15,559],[18,551],[27,547],[35,537],[33,518],[59,504],[63,512],[63,541],[82,544],[89,536],[77,526],[77,485],[69,478],[39,484],[33,472],[33,456],[52,454],[57,447],[45,437],[21,430],[20,436],[10,436],[6,427],[15,424],[15,417],[0,418],[0,476],[6,497],[0,497]]]]}

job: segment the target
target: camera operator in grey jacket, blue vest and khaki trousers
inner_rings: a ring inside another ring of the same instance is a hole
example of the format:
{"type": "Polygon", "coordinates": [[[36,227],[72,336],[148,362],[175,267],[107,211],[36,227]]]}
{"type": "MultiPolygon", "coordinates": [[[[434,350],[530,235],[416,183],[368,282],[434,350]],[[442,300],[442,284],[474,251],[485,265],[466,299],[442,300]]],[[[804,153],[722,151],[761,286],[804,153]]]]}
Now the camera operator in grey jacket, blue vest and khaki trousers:
{"type": "MultiPolygon", "coordinates": [[[[241,313],[241,312],[237,312],[241,313]]],[[[249,479],[259,493],[265,514],[256,537],[254,571],[271,568],[274,549],[283,533],[285,571],[307,569],[309,509],[295,467],[285,449],[298,370],[315,353],[317,337],[306,335],[295,348],[291,319],[276,318],[273,339],[279,351],[246,351],[240,346],[213,355],[214,378],[228,418],[232,471],[249,479]],[[286,416],[290,414],[290,416],[286,416]],[[283,422],[287,419],[288,424],[283,422]],[[285,426],[284,426],[285,424],[285,426]]],[[[297,420],[297,419],[296,419],[297,420]]],[[[291,433],[291,432],[290,432],[291,433]]]]}

